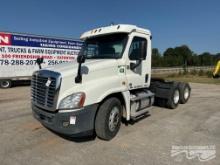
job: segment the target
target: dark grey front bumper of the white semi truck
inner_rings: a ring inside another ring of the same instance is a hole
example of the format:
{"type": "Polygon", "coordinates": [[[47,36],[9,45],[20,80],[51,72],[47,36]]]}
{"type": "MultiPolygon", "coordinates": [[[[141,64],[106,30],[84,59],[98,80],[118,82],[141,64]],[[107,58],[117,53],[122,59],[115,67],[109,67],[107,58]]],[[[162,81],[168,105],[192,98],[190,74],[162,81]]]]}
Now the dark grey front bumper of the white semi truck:
{"type": "Polygon", "coordinates": [[[32,105],[32,112],[38,121],[54,132],[68,136],[81,136],[94,130],[97,108],[98,104],[93,104],[76,111],[48,112],[32,105]],[[75,116],[75,124],[70,124],[70,116],[75,116]]]}

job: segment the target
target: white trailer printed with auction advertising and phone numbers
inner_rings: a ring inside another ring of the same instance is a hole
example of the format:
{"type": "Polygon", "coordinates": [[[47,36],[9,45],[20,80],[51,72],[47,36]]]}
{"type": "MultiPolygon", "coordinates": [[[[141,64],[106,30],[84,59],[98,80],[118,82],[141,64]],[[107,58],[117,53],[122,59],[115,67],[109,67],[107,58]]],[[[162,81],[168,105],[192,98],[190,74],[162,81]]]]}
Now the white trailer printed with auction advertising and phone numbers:
{"type": "Polygon", "coordinates": [[[30,80],[38,70],[36,59],[44,57],[42,67],[76,59],[82,42],[76,39],[0,32],[0,87],[13,81],[30,80]]]}

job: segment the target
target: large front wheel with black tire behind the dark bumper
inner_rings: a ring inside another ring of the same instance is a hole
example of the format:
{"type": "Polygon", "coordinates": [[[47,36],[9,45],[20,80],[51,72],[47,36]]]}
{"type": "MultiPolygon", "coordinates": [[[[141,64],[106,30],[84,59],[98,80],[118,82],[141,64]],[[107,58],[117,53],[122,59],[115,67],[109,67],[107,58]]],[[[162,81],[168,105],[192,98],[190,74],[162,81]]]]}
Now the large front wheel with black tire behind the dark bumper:
{"type": "Polygon", "coordinates": [[[96,135],[103,140],[111,140],[114,138],[120,129],[121,117],[121,102],[115,97],[105,100],[96,115],[96,135]]]}

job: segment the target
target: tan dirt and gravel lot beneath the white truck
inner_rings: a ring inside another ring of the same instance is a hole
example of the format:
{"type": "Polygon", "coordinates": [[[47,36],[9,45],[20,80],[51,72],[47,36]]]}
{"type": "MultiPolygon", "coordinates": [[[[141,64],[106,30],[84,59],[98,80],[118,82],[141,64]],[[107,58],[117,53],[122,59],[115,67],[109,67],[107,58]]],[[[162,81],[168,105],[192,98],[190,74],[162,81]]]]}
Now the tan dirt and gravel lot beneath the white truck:
{"type": "Polygon", "coordinates": [[[215,145],[220,162],[220,86],[191,84],[192,96],[176,110],[154,107],[147,118],[122,125],[109,142],[65,139],[36,121],[28,86],[0,89],[1,165],[204,164],[184,153],[171,157],[176,146],[215,145]]]}

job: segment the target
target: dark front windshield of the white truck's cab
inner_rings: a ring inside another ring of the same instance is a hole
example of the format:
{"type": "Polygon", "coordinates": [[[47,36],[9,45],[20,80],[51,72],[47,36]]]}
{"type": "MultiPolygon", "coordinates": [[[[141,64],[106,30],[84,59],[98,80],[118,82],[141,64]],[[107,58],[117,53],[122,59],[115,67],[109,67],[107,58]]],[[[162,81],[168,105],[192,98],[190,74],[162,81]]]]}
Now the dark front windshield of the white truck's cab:
{"type": "Polygon", "coordinates": [[[80,55],[87,59],[118,59],[122,57],[127,33],[117,33],[87,39],[80,51],[80,55]]]}

